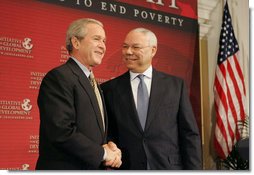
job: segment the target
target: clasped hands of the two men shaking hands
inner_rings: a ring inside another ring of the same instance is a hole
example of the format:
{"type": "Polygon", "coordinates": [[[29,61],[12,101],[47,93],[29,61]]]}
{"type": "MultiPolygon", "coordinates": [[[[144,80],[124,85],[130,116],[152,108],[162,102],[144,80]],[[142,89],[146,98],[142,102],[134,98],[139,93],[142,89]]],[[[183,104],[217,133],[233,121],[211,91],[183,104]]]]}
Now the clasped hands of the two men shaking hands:
{"type": "Polygon", "coordinates": [[[111,168],[119,168],[122,165],[122,152],[114,142],[108,142],[102,146],[106,151],[104,165],[111,168]]]}

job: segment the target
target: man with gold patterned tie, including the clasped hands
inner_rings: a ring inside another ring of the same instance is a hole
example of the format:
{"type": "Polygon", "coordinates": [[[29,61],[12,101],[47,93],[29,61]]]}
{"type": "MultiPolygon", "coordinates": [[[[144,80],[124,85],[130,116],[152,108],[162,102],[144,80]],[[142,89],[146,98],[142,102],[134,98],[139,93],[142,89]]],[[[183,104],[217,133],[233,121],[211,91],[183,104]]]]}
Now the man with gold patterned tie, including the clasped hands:
{"type": "Polygon", "coordinates": [[[47,73],[39,91],[37,170],[121,165],[121,151],[113,142],[106,144],[108,121],[103,96],[97,93],[97,98],[89,81],[92,68],[105,54],[105,39],[103,25],[97,20],[79,19],[69,26],[66,48],[71,58],[47,73]]]}

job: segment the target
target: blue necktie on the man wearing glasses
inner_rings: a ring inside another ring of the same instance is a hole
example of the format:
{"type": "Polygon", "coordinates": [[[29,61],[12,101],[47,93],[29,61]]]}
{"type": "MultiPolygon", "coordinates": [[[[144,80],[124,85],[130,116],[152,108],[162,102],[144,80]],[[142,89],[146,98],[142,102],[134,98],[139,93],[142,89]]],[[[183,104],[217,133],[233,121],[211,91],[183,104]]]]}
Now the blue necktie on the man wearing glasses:
{"type": "Polygon", "coordinates": [[[137,95],[137,112],[138,112],[140,124],[144,130],[145,124],[146,124],[149,98],[148,98],[147,87],[144,82],[144,75],[139,74],[137,77],[140,80],[138,85],[138,95],[137,95]]]}

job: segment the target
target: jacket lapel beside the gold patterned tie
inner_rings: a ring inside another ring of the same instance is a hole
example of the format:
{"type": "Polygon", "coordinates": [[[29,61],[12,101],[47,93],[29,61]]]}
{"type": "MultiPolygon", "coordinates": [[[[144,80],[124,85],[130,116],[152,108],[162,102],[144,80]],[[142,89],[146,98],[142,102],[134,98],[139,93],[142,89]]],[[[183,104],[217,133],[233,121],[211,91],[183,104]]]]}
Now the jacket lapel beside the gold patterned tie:
{"type": "MultiPolygon", "coordinates": [[[[83,73],[83,71],[79,68],[79,66],[75,63],[75,61],[73,61],[72,59],[69,59],[68,62],[67,62],[67,65],[69,65],[69,67],[71,68],[73,73],[78,77],[80,85],[82,86],[84,91],[86,91],[86,93],[88,94],[88,96],[90,98],[90,101],[91,101],[91,104],[93,106],[94,112],[96,114],[96,119],[97,119],[97,122],[99,124],[100,129],[101,129],[101,133],[104,137],[105,132],[104,132],[103,123],[102,123],[102,120],[101,120],[100,109],[99,109],[99,105],[98,105],[95,93],[94,93],[93,88],[90,84],[90,81],[88,80],[86,75],[83,73]]],[[[103,106],[104,106],[104,109],[105,109],[104,102],[103,102],[103,106]]],[[[106,109],[104,110],[104,112],[105,111],[106,111],[106,109]]],[[[106,115],[105,115],[105,118],[106,118],[106,115]]],[[[106,121],[105,121],[105,125],[106,125],[106,121]]],[[[105,126],[105,128],[106,128],[106,126],[105,126]]]]}

